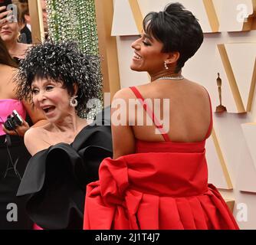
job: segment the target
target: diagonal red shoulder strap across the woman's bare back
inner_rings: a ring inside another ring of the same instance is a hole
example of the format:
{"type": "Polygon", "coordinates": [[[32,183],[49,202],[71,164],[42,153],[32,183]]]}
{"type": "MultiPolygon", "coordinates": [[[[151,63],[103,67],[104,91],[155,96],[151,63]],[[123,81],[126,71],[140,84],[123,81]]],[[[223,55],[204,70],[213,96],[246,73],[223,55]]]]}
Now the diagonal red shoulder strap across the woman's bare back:
{"type": "Polygon", "coordinates": [[[169,142],[170,141],[169,136],[166,134],[164,129],[162,129],[162,125],[160,125],[159,120],[156,118],[155,114],[153,113],[153,110],[150,109],[149,106],[147,106],[147,104],[146,104],[143,96],[139,92],[139,90],[136,87],[130,87],[130,90],[132,90],[133,93],[135,94],[136,98],[139,99],[139,103],[141,103],[141,105],[143,106],[143,109],[146,111],[146,113],[152,119],[154,125],[156,126],[156,129],[159,129],[159,132],[161,133],[163,139],[166,142],[169,142]]]}

